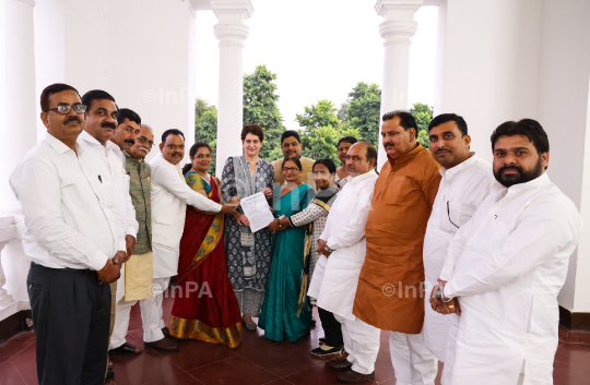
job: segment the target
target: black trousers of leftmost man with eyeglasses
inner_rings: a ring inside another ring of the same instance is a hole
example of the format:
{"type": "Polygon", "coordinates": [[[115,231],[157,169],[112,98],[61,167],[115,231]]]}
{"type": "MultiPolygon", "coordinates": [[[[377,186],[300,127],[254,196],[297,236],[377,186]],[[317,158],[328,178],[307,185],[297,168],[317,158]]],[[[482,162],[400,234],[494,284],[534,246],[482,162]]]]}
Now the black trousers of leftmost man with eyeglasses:
{"type": "Polygon", "coordinates": [[[31,265],[26,279],[37,336],[39,385],[105,382],[110,287],[94,270],[31,265]]]}

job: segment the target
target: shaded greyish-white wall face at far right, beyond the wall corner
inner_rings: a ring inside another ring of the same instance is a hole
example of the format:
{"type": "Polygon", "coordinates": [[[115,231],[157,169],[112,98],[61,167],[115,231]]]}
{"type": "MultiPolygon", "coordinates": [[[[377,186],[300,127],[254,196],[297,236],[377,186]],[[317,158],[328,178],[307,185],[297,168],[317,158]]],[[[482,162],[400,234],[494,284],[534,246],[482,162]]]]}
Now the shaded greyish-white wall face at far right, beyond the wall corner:
{"type": "Polygon", "coordinates": [[[559,303],[590,312],[590,2],[545,0],[541,19],[538,118],[547,131],[547,173],[580,208],[586,231],[559,303]]]}

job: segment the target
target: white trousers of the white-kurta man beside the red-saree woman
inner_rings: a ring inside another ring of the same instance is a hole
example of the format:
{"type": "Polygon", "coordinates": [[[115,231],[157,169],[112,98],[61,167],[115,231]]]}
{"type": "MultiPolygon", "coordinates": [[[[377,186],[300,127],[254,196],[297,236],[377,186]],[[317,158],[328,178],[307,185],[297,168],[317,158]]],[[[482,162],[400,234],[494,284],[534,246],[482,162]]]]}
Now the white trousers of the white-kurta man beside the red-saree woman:
{"type": "Polygon", "coordinates": [[[152,297],[140,301],[144,342],[155,342],[164,338],[162,328],[166,326],[166,323],[162,320],[164,316],[162,300],[164,298],[164,291],[168,288],[169,284],[170,277],[154,278],[152,297]]]}

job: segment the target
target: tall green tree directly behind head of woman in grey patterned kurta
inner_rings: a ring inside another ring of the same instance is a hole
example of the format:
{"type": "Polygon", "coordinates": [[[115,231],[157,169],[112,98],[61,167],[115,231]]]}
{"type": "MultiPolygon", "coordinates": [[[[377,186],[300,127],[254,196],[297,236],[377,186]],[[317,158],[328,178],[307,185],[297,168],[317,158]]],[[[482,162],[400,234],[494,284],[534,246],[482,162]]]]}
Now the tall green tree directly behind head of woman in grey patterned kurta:
{"type": "Polygon", "coordinates": [[[258,65],[253,73],[244,75],[244,124],[260,124],[264,129],[264,145],[260,149],[260,157],[266,160],[275,160],[278,153],[273,152],[281,146],[281,135],[285,131],[283,118],[276,103],[276,74],[258,65]]]}

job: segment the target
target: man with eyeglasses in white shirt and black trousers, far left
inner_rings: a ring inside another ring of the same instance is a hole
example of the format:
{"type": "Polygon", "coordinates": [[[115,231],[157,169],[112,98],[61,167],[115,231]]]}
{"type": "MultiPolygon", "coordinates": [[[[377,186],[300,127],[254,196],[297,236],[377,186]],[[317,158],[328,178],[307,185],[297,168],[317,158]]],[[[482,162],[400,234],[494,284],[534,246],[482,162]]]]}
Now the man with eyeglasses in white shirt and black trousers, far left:
{"type": "Polygon", "coordinates": [[[16,167],[31,258],[27,291],[39,384],[102,384],[107,364],[110,288],[125,239],[103,194],[93,157],[76,142],[86,107],[78,91],[52,84],[40,96],[45,139],[16,167]]]}

